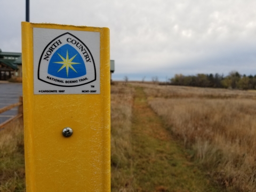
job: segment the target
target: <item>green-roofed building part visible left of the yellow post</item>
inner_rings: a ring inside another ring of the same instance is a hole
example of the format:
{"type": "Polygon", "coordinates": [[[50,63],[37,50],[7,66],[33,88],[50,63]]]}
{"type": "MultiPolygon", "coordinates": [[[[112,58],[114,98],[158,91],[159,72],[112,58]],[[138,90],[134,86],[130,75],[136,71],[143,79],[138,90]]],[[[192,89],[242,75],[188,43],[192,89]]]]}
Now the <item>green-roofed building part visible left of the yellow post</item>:
{"type": "Polygon", "coordinates": [[[21,53],[2,52],[0,49],[0,80],[22,76],[21,53]]]}

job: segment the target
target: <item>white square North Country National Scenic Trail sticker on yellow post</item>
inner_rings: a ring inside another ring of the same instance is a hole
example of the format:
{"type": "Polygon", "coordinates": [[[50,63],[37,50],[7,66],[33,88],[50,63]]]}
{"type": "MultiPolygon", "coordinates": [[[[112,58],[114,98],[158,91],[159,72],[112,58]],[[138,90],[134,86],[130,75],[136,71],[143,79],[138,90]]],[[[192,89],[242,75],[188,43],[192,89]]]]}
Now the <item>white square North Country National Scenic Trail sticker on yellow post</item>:
{"type": "Polygon", "coordinates": [[[34,94],[99,94],[100,33],[34,28],[34,94]]]}

